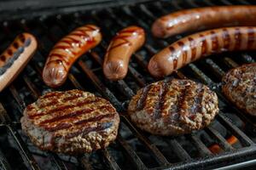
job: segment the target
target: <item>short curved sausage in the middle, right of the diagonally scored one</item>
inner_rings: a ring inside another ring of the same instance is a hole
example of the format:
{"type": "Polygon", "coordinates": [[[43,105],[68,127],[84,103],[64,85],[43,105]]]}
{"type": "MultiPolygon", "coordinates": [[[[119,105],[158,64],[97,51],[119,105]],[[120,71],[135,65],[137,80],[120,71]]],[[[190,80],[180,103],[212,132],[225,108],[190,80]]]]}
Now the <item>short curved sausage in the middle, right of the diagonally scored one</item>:
{"type": "Polygon", "coordinates": [[[128,71],[131,54],[143,46],[145,32],[138,26],[129,26],[119,31],[110,42],[104,58],[105,77],[117,81],[123,79],[128,71]]]}

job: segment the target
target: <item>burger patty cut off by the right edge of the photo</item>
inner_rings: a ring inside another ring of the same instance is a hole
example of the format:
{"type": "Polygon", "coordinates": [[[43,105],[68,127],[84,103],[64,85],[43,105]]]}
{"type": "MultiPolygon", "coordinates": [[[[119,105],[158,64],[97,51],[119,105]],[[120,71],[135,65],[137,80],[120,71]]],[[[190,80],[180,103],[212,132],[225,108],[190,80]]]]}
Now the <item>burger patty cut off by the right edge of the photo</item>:
{"type": "Polygon", "coordinates": [[[256,63],[230,70],[223,77],[222,91],[239,109],[256,116],[256,63]]]}

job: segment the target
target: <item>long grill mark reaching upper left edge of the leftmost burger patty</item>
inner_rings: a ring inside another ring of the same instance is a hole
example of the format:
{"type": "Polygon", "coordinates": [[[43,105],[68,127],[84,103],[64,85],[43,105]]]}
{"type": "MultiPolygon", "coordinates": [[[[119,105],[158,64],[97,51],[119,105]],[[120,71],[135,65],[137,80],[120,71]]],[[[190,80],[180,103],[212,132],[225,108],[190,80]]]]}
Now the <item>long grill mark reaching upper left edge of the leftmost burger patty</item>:
{"type": "Polygon", "coordinates": [[[34,119],[35,117],[38,116],[44,116],[44,115],[49,115],[49,114],[56,114],[56,112],[63,112],[66,111],[67,109],[73,109],[74,107],[79,107],[82,105],[89,105],[91,103],[96,103],[98,102],[100,99],[88,99],[88,100],[83,100],[83,101],[78,101],[76,103],[72,103],[69,105],[58,105],[56,106],[54,109],[48,110],[48,111],[44,111],[38,114],[33,114],[33,115],[29,115],[29,118],[34,119]]]}

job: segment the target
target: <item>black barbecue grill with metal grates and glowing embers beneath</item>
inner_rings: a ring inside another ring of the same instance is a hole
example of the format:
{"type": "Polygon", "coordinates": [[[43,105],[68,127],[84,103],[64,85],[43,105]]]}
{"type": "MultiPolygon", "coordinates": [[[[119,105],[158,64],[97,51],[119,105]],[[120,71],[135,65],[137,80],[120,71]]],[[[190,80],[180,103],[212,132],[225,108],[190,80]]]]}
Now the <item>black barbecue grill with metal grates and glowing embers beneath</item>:
{"type": "Polygon", "coordinates": [[[256,165],[256,135],[253,117],[236,109],[220,91],[226,71],[255,62],[255,52],[214,54],[185,66],[170,77],[203,82],[218,94],[219,114],[209,127],[177,137],[159,137],[139,130],[126,114],[137,89],[155,82],[147,71],[150,57],[167,44],[185,36],[155,39],[150,26],[155,19],[183,8],[213,5],[253,4],[248,0],[169,1],[10,1],[0,3],[0,50],[20,32],[38,38],[38,51],[9,88],[0,93],[0,168],[9,169],[234,169],[256,165]],[[47,87],[42,70],[50,48],[78,26],[102,28],[102,43],[73,65],[67,82],[57,89],[47,87]],[[108,42],[125,26],[142,26],[147,42],[133,54],[124,80],[110,82],[102,73],[108,42]],[[20,117],[26,105],[51,90],[78,88],[108,99],[119,111],[118,138],[104,150],[80,156],[64,156],[35,147],[21,132],[20,117]]]}

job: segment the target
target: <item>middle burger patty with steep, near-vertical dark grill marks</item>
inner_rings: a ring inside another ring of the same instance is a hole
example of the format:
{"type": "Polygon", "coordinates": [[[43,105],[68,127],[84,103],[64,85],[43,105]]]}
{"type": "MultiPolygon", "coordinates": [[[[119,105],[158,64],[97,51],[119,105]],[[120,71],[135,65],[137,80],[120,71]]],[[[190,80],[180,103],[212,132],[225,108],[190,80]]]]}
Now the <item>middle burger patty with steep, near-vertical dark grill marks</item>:
{"type": "Polygon", "coordinates": [[[206,127],[218,113],[218,97],[190,80],[164,80],[140,89],[128,113],[148,133],[177,135],[206,127]]]}

